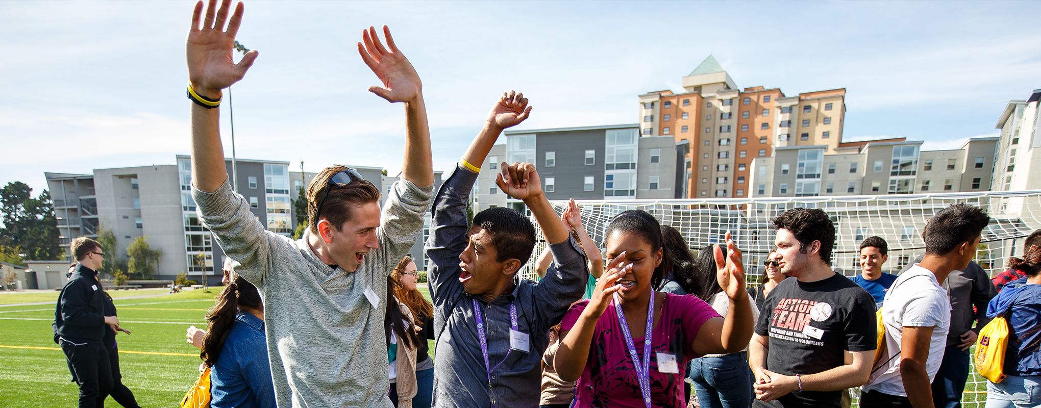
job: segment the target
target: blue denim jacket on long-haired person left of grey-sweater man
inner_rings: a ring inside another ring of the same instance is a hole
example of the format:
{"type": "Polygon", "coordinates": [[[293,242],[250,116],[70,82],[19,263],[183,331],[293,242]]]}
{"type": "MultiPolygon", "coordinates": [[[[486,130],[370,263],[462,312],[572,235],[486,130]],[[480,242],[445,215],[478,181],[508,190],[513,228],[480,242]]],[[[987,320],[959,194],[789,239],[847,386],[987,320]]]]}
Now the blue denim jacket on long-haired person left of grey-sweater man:
{"type": "Polygon", "coordinates": [[[268,363],[263,321],[239,310],[210,367],[210,406],[213,408],[274,408],[275,385],[268,363]]]}

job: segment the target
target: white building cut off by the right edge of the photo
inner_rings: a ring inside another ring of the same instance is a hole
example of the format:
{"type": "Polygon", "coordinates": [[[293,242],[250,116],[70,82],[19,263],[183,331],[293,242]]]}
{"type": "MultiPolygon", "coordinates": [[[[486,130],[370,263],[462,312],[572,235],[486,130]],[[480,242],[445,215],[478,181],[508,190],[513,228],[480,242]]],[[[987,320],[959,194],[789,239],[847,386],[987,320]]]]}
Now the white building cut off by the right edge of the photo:
{"type": "Polygon", "coordinates": [[[1038,103],[1041,90],[1026,100],[1010,101],[997,121],[1001,129],[994,156],[994,189],[1041,188],[1041,137],[1038,137],[1038,103]],[[1033,178],[1030,177],[1033,174],[1033,178]]]}

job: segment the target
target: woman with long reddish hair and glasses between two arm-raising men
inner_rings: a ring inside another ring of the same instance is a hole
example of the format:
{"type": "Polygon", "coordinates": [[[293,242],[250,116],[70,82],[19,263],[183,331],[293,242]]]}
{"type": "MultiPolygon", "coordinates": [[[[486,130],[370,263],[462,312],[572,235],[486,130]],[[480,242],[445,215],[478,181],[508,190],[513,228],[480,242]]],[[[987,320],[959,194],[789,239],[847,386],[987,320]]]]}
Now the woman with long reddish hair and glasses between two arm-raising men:
{"type": "Polygon", "coordinates": [[[389,362],[393,376],[390,401],[396,407],[401,407],[399,401],[404,402],[407,397],[410,406],[430,408],[433,398],[434,360],[428,354],[427,340],[434,339],[434,306],[420,291],[415,261],[408,255],[387,277],[387,291],[392,296],[387,305],[387,353],[391,349],[397,351],[397,360],[391,358],[389,362]],[[408,361],[401,359],[405,355],[410,356],[408,361]]]}

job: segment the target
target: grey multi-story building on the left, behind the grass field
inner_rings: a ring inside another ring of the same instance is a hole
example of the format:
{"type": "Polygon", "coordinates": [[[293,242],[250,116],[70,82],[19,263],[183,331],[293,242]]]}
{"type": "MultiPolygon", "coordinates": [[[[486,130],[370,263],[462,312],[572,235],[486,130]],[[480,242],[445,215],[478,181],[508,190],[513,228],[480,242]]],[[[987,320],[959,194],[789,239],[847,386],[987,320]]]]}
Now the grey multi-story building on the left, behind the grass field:
{"type": "MultiPolygon", "coordinates": [[[[176,160],[176,165],[97,169],[94,174],[45,173],[67,254],[73,238],[97,238],[99,228],[107,228],[121,254],[138,236],[161,249],[159,279],[184,272],[194,280],[220,282],[224,253],[196,213],[191,157],[178,155],[176,160]]],[[[314,173],[289,172],[288,161],[236,161],[238,193],[249,201],[250,211],[269,231],[289,236],[297,224],[293,200],[314,173]]],[[[232,175],[230,159],[226,165],[232,175]]],[[[383,189],[382,169],[354,169],[383,189]]]]}

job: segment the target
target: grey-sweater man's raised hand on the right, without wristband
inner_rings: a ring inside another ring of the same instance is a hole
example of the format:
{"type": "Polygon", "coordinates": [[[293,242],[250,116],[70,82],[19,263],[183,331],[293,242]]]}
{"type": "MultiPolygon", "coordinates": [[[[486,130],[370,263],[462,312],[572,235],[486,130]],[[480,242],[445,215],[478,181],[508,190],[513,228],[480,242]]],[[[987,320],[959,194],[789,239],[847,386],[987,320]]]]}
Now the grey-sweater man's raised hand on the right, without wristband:
{"type": "Polygon", "coordinates": [[[380,37],[376,35],[376,27],[369,27],[361,31],[361,41],[365,44],[358,43],[361,60],[383,82],[383,87],[369,86],[369,92],[388,102],[414,102],[423,94],[420,74],[395,45],[387,26],[383,26],[383,35],[387,39],[386,47],[383,47],[380,37]]]}

